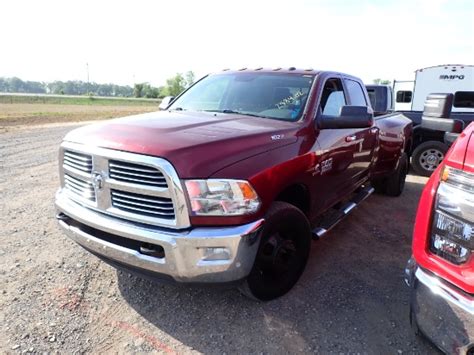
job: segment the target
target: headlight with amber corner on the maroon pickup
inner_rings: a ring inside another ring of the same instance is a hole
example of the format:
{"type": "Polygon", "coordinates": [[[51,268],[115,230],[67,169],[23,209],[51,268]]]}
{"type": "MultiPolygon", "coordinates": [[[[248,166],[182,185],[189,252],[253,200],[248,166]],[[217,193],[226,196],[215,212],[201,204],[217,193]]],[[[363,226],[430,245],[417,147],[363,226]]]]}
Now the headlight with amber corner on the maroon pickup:
{"type": "Polygon", "coordinates": [[[260,207],[252,186],[243,180],[186,180],[191,209],[197,216],[239,216],[260,207]]]}

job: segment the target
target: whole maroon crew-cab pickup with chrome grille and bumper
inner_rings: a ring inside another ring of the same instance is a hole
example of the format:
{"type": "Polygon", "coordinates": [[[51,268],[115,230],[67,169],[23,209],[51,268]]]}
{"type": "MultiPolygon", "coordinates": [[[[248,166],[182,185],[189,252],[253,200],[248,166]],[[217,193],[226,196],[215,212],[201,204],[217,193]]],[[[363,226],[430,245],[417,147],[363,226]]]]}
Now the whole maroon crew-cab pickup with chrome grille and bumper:
{"type": "Polygon", "coordinates": [[[401,194],[411,144],[412,122],[374,117],[353,76],[223,71],[164,111],[70,132],[57,218],[117,267],[269,300],[374,188],[401,194]]]}

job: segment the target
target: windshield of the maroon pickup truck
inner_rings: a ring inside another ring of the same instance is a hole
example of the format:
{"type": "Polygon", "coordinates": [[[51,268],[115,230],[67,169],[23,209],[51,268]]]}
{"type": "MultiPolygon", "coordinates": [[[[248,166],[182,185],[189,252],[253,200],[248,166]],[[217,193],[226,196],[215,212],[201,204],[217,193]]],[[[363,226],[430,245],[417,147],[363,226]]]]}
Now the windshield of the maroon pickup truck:
{"type": "Polygon", "coordinates": [[[170,110],[238,113],[296,121],[303,114],[313,75],[216,74],[199,81],[170,110]]]}

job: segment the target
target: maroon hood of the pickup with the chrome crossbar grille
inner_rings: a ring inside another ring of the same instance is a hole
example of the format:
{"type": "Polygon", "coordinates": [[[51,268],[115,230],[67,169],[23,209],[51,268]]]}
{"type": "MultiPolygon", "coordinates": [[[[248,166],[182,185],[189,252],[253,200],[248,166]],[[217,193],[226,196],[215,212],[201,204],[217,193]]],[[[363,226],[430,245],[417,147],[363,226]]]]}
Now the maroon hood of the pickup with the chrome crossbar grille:
{"type": "Polygon", "coordinates": [[[181,178],[206,178],[296,142],[298,124],[234,114],[161,111],[81,127],[64,140],[170,161],[181,178]]]}

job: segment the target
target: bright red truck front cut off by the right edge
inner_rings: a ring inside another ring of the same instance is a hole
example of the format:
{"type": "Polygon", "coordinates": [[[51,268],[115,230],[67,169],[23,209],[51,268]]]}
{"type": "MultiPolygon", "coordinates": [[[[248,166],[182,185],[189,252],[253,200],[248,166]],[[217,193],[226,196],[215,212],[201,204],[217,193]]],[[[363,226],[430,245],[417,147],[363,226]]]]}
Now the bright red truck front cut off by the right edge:
{"type": "Polygon", "coordinates": [[[413,235],[410,315],[449,354],[474,354],[474,123],[431,175],[413,235]]]}

